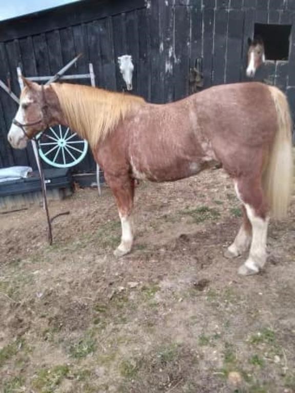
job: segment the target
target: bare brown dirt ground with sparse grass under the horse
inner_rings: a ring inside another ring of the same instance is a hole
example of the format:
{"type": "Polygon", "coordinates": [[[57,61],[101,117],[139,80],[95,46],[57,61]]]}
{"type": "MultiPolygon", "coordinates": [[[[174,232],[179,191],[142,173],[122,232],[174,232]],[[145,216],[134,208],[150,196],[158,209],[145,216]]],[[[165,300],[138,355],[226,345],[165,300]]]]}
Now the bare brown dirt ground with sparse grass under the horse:
{"type": "Polygon", "coordinates": [[[240,210],[222,170],[137,188],[133,252],[107,187],[0,216],[0,391],[295,392],[295,201],[265,271],[223,257],[240,210]]]}

